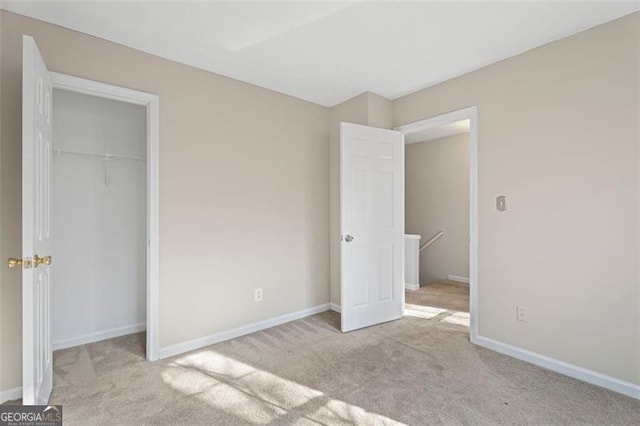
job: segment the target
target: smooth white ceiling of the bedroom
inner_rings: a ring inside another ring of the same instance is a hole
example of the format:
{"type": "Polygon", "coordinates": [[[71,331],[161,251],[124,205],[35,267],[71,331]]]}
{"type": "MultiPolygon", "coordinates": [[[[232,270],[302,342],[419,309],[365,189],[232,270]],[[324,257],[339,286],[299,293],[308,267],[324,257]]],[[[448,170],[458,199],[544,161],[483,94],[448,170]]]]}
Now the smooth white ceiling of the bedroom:
{"type": "Polygon", "coordinates": [[[640,9],[640,2],[13,1],[2,8],[332,106],[389,99],[640,9]]]}

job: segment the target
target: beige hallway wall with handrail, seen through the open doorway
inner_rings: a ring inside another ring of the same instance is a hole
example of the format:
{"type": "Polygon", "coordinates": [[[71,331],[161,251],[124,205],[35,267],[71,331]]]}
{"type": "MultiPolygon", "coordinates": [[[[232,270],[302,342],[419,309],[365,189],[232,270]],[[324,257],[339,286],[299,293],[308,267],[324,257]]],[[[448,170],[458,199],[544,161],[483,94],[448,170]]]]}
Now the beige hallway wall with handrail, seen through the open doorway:
{"type": "Polygon", "coordinates": [[[405,232],[421,244],[445,230],[420,253],[420,284],[469,277],[469,134],[405,147],[405,232]]]}

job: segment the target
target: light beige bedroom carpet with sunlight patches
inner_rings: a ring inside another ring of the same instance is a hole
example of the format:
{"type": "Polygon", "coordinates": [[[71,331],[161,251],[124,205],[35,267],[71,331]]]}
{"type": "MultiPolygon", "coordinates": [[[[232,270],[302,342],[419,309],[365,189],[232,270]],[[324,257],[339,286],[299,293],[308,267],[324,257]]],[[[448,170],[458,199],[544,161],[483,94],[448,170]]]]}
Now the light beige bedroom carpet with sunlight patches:
{"type": "Polygon", "coordinates": [[[55,353],[65,424],[637,424],[640,401],[405,317],[347,334],[326,312],[174,358],[144,334],[55,353]]]}

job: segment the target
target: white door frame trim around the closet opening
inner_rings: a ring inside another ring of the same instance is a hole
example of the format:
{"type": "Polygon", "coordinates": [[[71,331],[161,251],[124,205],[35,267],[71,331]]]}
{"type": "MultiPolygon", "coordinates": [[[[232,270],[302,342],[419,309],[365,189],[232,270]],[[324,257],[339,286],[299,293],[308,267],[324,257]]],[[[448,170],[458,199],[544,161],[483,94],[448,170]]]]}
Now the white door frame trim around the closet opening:
{"type": "Polygon", "coordinates": [[[157,361],[159,338],[160,98],[111,84],[51,72],[53,88],[144,106],[147,110],[147,359],[157,361]]]}

